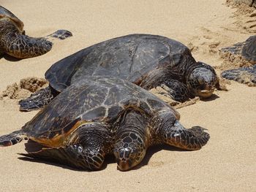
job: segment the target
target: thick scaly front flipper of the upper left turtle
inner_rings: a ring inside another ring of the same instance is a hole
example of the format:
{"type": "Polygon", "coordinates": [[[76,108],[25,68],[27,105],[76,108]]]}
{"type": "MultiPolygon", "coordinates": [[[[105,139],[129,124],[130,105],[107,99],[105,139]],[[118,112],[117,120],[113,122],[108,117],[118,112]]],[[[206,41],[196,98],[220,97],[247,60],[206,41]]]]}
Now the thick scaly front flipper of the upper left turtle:
{"type": "Polygon", "coordinates": [[[19,33],[9,33],[1,38],[4,52],[15,58],[32,58],[48,53],[53,43],[45,38],[33,38],[19,33]]]}

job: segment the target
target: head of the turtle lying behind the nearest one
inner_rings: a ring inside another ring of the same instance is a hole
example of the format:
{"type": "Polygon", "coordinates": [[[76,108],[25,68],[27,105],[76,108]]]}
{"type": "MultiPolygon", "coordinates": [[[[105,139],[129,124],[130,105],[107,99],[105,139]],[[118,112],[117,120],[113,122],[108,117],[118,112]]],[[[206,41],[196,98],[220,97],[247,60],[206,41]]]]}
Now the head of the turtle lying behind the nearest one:
{"type": "Polygon", "coordinates": [[[214,69],[201,62],[200,67],[195,68],[187,79],[187,85],[195,96],[208,98],[214,93],[214,89],[217,88],[219,80],[214,69]]]}

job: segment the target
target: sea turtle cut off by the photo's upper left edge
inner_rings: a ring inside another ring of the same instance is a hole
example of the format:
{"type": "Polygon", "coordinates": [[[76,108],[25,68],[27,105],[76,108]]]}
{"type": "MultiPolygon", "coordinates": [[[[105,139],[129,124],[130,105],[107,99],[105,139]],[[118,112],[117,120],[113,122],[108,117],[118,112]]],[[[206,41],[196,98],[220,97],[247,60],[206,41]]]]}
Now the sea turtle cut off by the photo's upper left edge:
{"type": "Polygon", "coordinates": [[[23,22],[12,12],[0,6],[0,55],[7,53],[15,58],[31,58],[47,53],[52,42],[48,37],[65,39],[72,36],[67,30],[58,30],[48,37],[34,38],[25,35],[23,22]]]}

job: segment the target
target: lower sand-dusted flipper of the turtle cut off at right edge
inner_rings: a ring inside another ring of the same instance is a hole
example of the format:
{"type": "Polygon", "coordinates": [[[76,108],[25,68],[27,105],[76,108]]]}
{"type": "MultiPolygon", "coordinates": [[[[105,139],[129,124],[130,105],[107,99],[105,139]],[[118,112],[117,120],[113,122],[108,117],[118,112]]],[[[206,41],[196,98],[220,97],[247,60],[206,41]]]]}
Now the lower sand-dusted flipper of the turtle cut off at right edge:
{"type": "Polygon", "coordinates": [[[256,65],[225,70],[221,76],[228,80],[235,80],[246,85],[256,86],[256,65]]]}

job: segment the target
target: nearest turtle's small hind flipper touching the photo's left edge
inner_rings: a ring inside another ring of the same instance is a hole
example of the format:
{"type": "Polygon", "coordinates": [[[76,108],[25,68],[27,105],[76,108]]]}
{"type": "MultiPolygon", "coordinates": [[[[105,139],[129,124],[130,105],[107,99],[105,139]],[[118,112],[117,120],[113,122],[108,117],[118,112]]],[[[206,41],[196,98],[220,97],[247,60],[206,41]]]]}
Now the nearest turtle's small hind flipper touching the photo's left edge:
{"type": "Polygon", "coordinates": [[[15,145],[23,139],[26,139],[26,137],[23,136],[21,130],[14,131],[11,134],[5,134],[0,137],[0,147],[15,145]]]}

